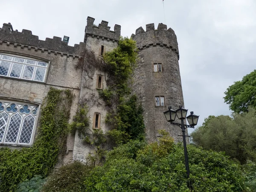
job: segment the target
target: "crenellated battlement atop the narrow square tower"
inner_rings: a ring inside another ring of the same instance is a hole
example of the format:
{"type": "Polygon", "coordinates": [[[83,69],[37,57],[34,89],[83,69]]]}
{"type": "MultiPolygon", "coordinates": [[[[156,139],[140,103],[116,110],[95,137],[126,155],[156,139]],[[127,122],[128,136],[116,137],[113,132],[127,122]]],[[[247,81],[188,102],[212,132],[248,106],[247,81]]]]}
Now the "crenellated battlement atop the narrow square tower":
{"type": "Polygon", "coordinates": [[[87,17],[87,26],[85,27],[85,35],[84,42],[86,42],[87,37],[90,35],[96,38],[102,38],[102,40],[111,40],[111,41],[119,41],[121,35],[121,26],[115,25],[114,30],[110,30],[110,26],[108,26],[108,21],[102,20],[99,26],[94,24],[93,17],[87,17]]]}

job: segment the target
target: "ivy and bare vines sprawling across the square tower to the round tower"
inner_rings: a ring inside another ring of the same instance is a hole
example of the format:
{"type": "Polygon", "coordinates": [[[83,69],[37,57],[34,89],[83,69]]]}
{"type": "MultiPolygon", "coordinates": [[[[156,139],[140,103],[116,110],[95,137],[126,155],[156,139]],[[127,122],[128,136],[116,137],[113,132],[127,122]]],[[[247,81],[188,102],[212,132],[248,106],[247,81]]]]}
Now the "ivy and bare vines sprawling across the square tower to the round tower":
{"type": "Polygon", "coordinates": [[[131,95],[130,89],[131,74],[137,58],[135,49],[135,41],[121,37],[118,47],[106,52],[103,61],[97,59],[91,52],[85,52],[87,56],[83,68],[86,71],[86,78],[92,78],[96,68],[108,74],[107,88],[98,91],[100,99],[108,109],[105,122],[109,125],[110,131],[104,134],[102,130],[91,130],[88,127],[86,101],[81,102],[81,107],[70,125],[73,131],[78,130],[79,137],[85,145],[95,149],[95,153],[88,157],[94,162],[104,161],[106,151],[113,146],[131,139],[144,139],[143,109],[138,104],[137,97],[131,95]]]}

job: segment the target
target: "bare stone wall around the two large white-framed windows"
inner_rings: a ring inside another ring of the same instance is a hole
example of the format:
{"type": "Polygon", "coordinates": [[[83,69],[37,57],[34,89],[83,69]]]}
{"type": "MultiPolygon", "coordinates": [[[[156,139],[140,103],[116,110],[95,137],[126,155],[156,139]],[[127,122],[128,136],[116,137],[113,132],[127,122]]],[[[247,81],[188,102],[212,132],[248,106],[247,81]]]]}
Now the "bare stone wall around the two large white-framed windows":
{"type": "MultiPolygon", "coordinates": [[[[18,37],[18,39],[27,38],[26,34],[17,34],[22,36],[18,37]]],[[[59,48],[58,51],[56,51],[53,49],[56,45],[53,44],[51,45],[51,47],[44,48],[29,46],[28,44],[19,44],[17,42],[25,42],[16,41],[15,38],[17,38],[18,36],[17,34],[14,34],[14,36],[12,36],[12,33],[6,33],[4,31],[0,32],[0,54],[14,55],[17,57],[30,58],[47,62],[49,67],[47,68],[47,74],[45,77],[46,79],[44,82],[36,82],[0,76],[0,98],[21,101],[24,103],[34,103],[39,105],[39,109],[41,109],[42,102],[47,96],[50,87],[55,87],[57,89],[69,89],[74,96],[73,104],[70,111],[70,117],[74,116],[78,108],[82,76],[82,70],[79,68],[76,69],[76,65],[79,64],[81,57],[79,55],[71,55],[68,53],[65,54],[64,52],[62,52],[67,51],[67,49],[61,50],[59,48]],[[46,48],[52,49],[49,50],[46,48]]],[[[34,42],[33,45],[37,45],[36,42],[34,42]]],[[[84,43],[81,44],[80,48],[82,48],[83,46],[84,43]]],[[[76,51],[78,52],[79,49],[77,49],[76,51]]],[[[39,126],[39,119],[40,113],[36,127],[39,126]]],[[[35,133],[33,137],[35,137],[35,133]]],[[[0,147],[3,146],[20,148],[20,146],[22,145],[3,143],[0,144],[0,147]]],[[[28,146],[26,145],[26,147],[28,146]]],[[[67,140],[67,151],[69,151],[69,153],[64,157],[64,159],[60,160],[60,163],[72,160],[73,147],[74,137],[72,135],[69,135],[67,140]]]]}

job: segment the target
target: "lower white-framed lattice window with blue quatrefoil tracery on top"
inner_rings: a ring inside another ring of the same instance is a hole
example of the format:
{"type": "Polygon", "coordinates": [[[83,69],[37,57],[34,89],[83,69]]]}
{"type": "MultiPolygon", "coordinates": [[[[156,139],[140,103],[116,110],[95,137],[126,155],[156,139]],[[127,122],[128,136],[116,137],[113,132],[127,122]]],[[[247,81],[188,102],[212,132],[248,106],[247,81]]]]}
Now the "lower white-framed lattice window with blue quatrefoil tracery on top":
{"type": "Polygon", "coordinates": [[[38,105],[0,100],[0,143],[31,145],[38,105]]]}

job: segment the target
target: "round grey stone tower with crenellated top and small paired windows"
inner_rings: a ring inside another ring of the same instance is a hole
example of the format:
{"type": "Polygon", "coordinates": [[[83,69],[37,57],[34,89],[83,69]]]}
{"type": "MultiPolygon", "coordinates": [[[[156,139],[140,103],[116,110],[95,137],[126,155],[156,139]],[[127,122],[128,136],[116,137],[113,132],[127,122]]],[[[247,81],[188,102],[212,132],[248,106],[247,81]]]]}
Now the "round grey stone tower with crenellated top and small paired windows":
{"type": "Polygon", "coordinates": [[[154,23],[142,27],[132,34],[138,47],[137,68],[133,73],[133,91],[144,109],[146,137],[153,142],[157,130],[165,129],[175,139],[181,140],[181,129],[166,121],[163,114],[172,106],[176,110],[184,105],[180,80],[179,51],[175,32],[163,23],[157,30],[154,23]]]}

